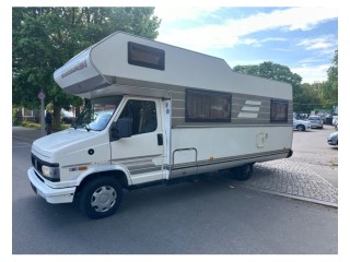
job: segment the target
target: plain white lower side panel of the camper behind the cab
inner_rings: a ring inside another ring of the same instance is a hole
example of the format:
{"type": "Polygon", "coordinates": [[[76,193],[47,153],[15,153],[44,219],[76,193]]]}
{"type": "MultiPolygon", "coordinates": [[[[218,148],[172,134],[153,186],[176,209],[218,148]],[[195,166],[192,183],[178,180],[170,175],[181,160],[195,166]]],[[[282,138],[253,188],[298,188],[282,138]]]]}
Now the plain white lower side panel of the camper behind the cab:
{"type": "Polygon", "coordinates": [[[170,178],[229,169],[288,156],[290,127],[174,129],[170,178]]]}

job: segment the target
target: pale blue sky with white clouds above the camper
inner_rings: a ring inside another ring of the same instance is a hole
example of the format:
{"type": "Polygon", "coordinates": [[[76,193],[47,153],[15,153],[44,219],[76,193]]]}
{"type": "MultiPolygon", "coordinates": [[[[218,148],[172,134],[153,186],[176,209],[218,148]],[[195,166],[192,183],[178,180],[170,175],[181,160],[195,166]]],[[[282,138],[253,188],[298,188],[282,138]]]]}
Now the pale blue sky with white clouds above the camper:
{"type": "Polygon", "coordinates": [[[303,83],[327,80],[338,49],[337,8],[155,7],[156,40],[224,59],[234,66],[271,61],[303,83]]]}

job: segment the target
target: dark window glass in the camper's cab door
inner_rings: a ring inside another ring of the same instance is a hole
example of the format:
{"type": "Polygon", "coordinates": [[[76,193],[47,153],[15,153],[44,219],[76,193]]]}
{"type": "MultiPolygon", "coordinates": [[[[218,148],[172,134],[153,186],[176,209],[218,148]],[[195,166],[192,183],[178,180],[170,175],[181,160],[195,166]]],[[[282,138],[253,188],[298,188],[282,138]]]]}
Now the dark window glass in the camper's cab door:
{"type": "Polygon", "coordinates": [[[156,130],[155,103],[150,100],[128,100],[119,118],[131,119],[132,135],[156,130]]]}

